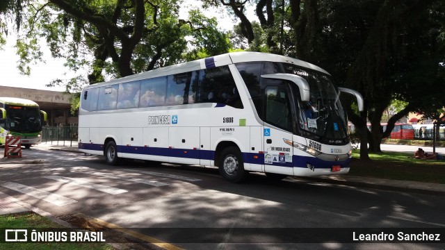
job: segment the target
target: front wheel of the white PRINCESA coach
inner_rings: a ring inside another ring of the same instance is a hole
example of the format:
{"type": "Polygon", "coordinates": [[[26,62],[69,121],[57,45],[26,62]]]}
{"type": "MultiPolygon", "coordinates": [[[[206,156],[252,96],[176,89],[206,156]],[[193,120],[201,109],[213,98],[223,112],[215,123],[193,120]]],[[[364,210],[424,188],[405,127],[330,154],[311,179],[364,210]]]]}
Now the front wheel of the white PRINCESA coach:
{"type": "Polygon", "coordinates": [[[221,176],[232,183],[239,183],[245,179],[247,172],[244,170],[241,151],[237,147],[227,147],[220,155],[219,171],[221,176]]]}

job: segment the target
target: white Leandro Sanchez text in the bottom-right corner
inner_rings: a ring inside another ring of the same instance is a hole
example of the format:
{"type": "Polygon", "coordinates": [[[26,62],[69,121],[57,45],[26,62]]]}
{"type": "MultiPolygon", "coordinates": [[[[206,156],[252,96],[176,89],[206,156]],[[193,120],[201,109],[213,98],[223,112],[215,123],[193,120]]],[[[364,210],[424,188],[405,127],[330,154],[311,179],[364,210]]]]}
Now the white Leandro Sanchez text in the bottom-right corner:
{"type": "Polygon", "coordinates": [[[440,242],[442,235],[440,233],[403,233],[403,231],[394,233],[355,233],[353,232],[353,241],[400,241],[400,242],[440,242]]]}

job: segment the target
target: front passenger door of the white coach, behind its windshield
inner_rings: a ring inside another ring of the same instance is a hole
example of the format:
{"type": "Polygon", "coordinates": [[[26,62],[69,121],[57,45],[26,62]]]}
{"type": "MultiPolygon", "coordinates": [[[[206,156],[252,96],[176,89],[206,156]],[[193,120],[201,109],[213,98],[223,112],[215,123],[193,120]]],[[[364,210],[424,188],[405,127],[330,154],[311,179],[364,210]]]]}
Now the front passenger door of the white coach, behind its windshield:
{"type": "Polygon", "coordinates": [[[293,175],[291,91],[286,85],[266,87],[264,105],[264,170],[293,175]],[[287,142],[287,143],[286,143],[287,142]]]}

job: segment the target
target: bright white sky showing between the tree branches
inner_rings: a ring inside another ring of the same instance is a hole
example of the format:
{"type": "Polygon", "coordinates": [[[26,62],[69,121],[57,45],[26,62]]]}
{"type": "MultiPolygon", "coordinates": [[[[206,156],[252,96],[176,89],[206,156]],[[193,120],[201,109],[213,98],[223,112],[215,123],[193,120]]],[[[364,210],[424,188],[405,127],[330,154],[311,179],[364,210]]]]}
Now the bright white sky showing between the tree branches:
{"type": "MultiPolygon", "coordinates": [[[[187,0],[185,6],[188,6],[188,8],[197,8],[199,7],[198,3],[199,1],[187,0]]],[[[188,16],[187,12],[188,10],[186,10],[186,8],[181,8],[179,18],[186,19],[188,16]]],[[[234,24],[236,24],[236,22],[233,22],[225,12],[219,10],[205,10],[204,13],[208,17],[217,17],[218,28],[226,31],[231,30],[234,24]]],[[[256,19],[254,8],[248,8],[247,14],[250,20],[256,19]]],[[[69,79],[77,75],[76,72],[70,72],[68,68],[63,66],[65,60],[58,60],[51,57],[49,48],[44,41],[40,42],[40,44],[45,62],[38,63],[38,65],[31,65],[30,76],[19,74],[19,69],[17,69],[19,56],[16,55],[16,49],[14,47],[16,37],[15,35],[8,35],[6,39],[6,46],[3,46],[3,49],[0,50],[0,75],[2,76],[0,85],[17,88],[32,88],[36,90],[63,91],[63,87],[48,88],[45,85],[56,78],[69,79]]]]}

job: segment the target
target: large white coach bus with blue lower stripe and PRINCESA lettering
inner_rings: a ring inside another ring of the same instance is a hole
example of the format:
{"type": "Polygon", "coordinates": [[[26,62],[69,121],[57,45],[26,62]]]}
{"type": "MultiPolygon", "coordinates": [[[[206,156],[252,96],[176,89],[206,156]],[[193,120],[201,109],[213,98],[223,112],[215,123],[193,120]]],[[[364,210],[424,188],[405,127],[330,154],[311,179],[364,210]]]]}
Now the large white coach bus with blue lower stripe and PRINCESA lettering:
{"type": "Polygon", "coordinates": [[[315,65],[237,52],[154,69],[82,90],[79,150],[119,158],[219,167],[239,182],[349,172],[340,92],[315,65]]]}

